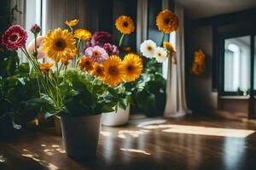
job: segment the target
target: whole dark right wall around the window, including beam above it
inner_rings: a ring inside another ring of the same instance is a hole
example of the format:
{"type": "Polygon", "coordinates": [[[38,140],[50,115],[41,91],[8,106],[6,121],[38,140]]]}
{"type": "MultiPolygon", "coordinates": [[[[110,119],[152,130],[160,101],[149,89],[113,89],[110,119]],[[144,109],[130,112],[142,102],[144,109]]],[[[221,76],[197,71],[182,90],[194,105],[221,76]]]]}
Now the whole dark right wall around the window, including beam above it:
{"type": "MultiPolygon", "coordinates": [[[[189,108],[195,113],[206,114],[217,109],[234,111],[230,107],[231,99],[218,99],[219,84],[219,37],[234,32],[256,31],[256,8],[245,11],[222,14],[209,18],[185,20],[185,69],[186,92],[189,108]],[[189,69],[193,62],[193,53],[201,48],[206,54],[206,71],[201,76],[192,76],[189,69]]],[[[233,102],[234,103],[234,102],[233,102]]],[[[239,111],[247,111],[244,101],[236,100],[239,111]],[[238,102],[237,102],[238,101],[238,102]]]]}

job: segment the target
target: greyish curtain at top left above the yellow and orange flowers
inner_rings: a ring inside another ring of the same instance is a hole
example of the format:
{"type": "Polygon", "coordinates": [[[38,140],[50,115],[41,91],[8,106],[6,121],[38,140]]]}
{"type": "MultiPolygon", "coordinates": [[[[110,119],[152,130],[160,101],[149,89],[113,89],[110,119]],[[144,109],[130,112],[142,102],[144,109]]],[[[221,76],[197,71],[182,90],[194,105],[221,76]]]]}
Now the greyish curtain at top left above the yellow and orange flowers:
{"type": "Polygon", "coordinates": [[[67,28],[64,21],[74,19],[79,19],[80,28],[91,32],[98,29],[98,0],[43,0],[43,8],[45,30],[67,28]]]}

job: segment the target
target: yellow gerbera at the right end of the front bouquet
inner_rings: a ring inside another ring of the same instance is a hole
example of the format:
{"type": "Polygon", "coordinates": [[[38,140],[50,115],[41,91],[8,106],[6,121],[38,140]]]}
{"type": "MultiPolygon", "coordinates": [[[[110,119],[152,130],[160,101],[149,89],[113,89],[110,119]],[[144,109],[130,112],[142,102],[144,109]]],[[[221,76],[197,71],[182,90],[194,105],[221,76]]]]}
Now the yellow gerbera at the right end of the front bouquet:
{"type": "Polygon", "coordinates": [[[137,54],[126,54],[122,66],[124,67],[123,79],[126,82],[133,82],[142,74],[143,60],[137,54]]]}

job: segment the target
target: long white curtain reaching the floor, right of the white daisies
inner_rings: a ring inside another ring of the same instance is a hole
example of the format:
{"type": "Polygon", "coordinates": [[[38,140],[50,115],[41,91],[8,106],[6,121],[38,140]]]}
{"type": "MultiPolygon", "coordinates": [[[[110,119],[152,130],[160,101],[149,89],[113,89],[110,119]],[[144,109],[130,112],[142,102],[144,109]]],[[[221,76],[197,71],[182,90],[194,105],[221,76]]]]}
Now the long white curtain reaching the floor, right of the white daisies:
{"type": "MultiPolygon", "coordinates": [[[[164,116],[179,117],[185,116],[189,110],[186,103],[185,95],[185,77],[184,77],[184,32],[183,32],[183,7],[175,4],[175,14],[178,17],[178,30],[176,32],[175,41],[173,41],[173,33],[170,36],[174,43],[177,53],[177,65],[172,64],[172,58],[168,58],[168,69],[166,79],[166,109],[164,116]]],[[[175,34],[174,34],[175,35],[175,34]]]]}

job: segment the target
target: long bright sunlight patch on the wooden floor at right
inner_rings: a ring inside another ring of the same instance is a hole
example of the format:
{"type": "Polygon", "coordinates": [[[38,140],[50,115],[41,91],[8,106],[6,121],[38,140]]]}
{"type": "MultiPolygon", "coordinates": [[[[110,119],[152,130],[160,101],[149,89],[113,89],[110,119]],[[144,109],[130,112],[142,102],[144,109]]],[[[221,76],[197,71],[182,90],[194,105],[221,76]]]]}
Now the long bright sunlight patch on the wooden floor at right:
{"type": "Polygon", "coordinates": [[[208,136],[224,136],[224,137],[235,137],[235,138],[246,138],[250,134],[254,133],[253,130],[247,129],[234,129],[234,128],[220,128],[220,127],[199,127],[199,126],[188,126],[188,125],[148,125],[143,128],[147,129],[158,129],[166,128],[162,130],[165,133],[186,133],[186,134],[200,134],[208,136]]]}

